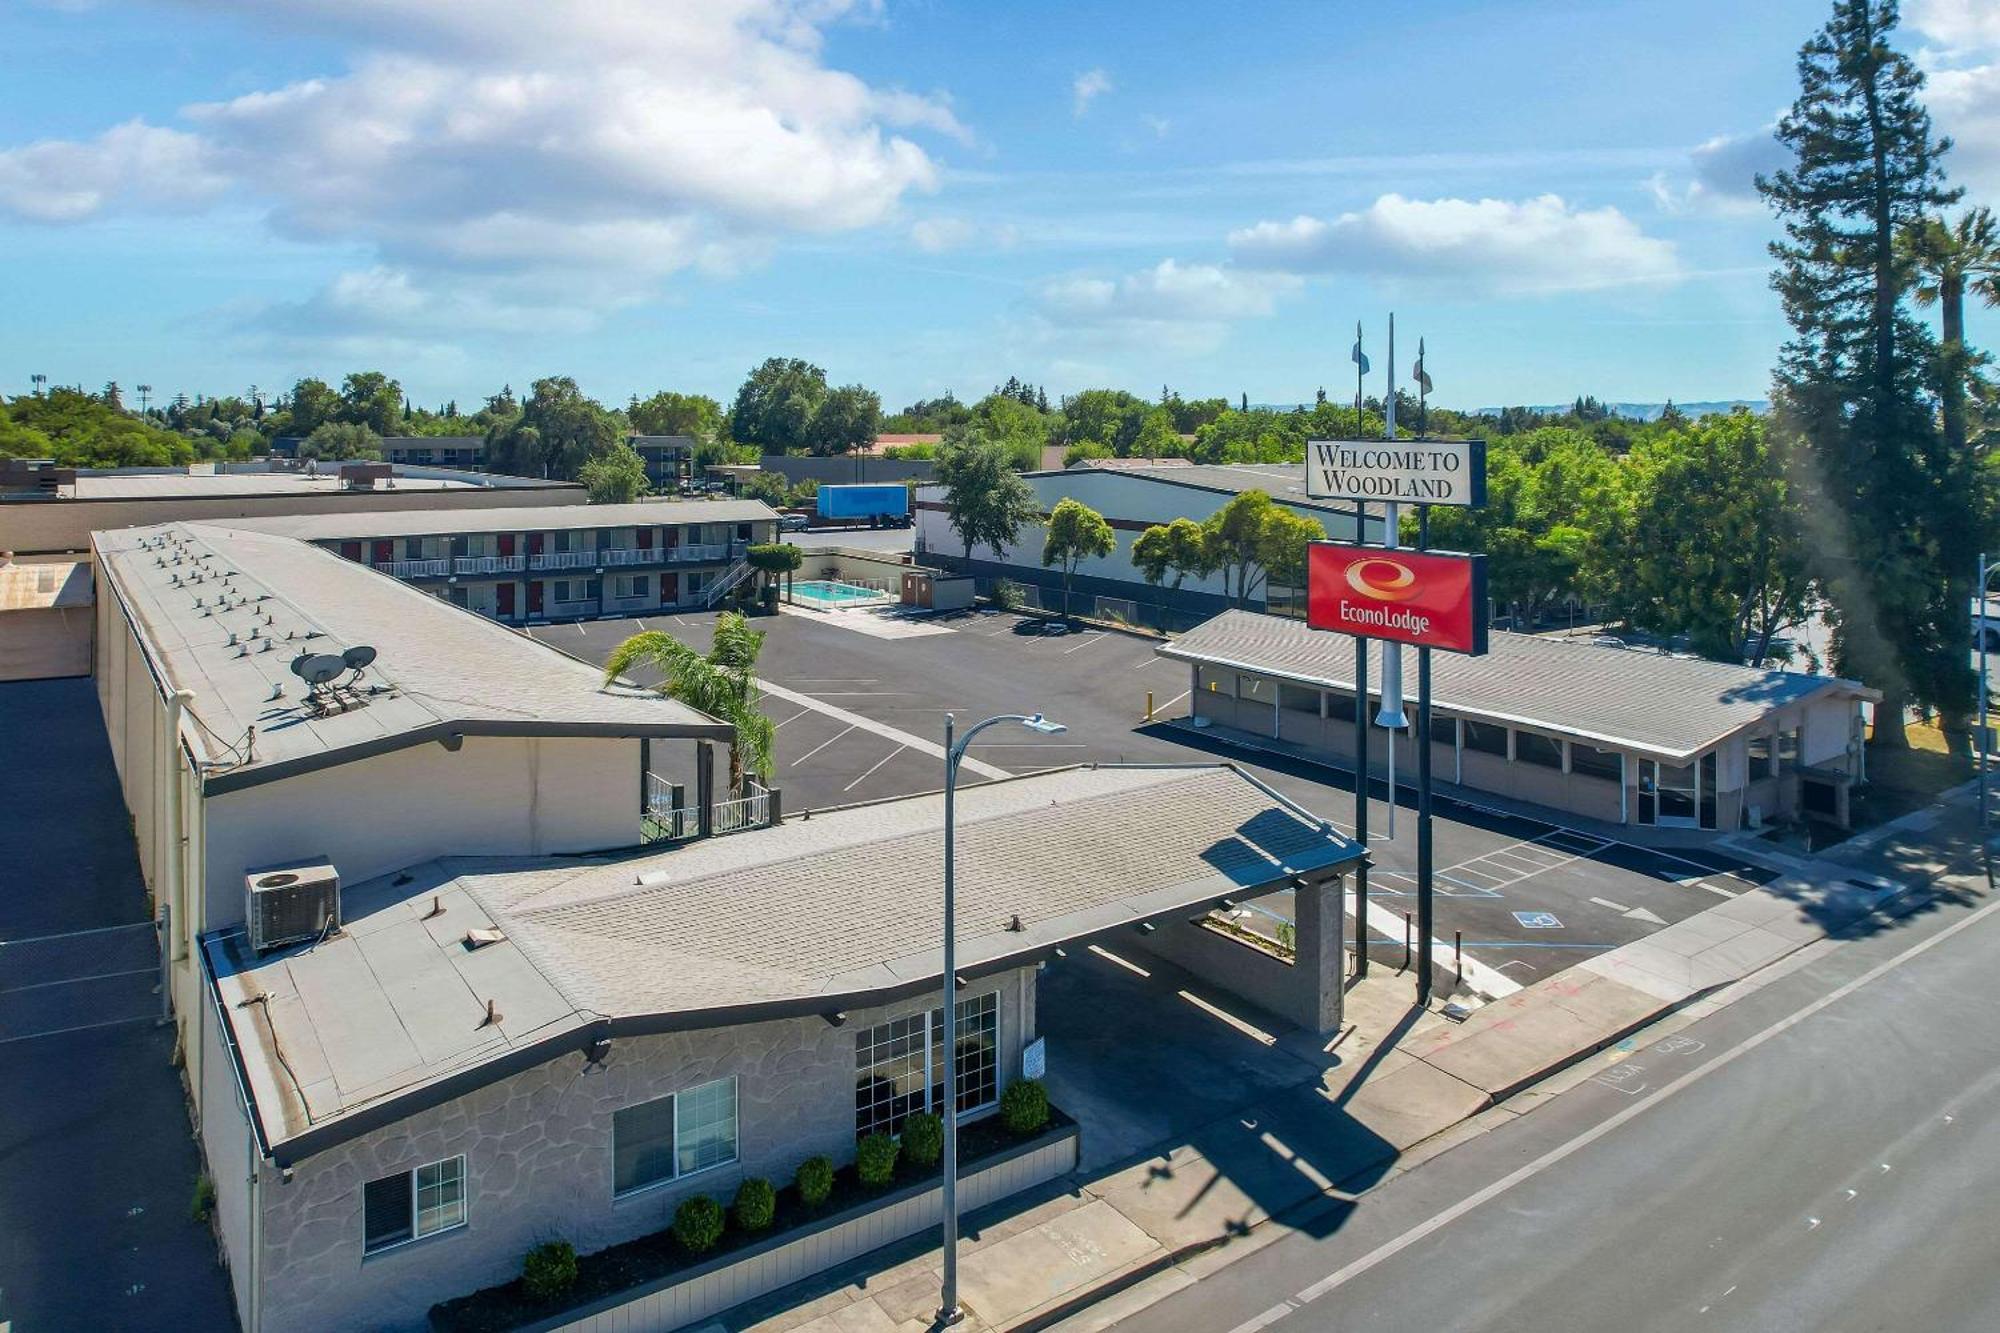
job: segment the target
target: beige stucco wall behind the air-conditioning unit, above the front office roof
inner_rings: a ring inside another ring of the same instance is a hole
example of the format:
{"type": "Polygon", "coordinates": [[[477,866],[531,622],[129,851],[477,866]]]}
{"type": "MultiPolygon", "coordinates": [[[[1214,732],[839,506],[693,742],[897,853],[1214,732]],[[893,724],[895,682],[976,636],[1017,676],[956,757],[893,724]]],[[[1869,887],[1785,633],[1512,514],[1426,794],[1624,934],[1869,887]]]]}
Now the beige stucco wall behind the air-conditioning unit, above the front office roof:
{"type": "Polygon", "coordinates": [[[352,885],[432,857],[632,847],[638,755],[624,739],[466,737],[456,755],[426,743],[208,797],[204,929],[240,923],[244,871],[278,861],[326,855],[352,885]]]}

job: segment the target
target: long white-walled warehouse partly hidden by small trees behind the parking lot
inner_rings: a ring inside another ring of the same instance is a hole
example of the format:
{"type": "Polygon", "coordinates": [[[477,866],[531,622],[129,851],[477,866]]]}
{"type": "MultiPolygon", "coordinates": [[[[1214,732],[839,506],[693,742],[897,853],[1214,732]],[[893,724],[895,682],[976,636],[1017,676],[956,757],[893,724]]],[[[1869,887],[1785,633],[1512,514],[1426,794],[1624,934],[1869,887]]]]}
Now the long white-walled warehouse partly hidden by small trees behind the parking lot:
{"type": "MultiPolygon", "coordinates": [[[[1334,540],[1356,540],[1364,520],[1356,506],[1306,496],[1304,468],[1292,464],[1200,466],[1182,458],[1098,458],[1064,470],[1022,472],[1046,514],[1062,500],[1080,500],[1104,514],[1118,538],[1104,558],[1078,564],[1072,580],[1072,610],[1120,618],[1132,624],[1184,628],[1232,604],[1224,574],[1188,576],[1180,588],[1154,586],[1132,564],[1132,542],[1146,528],[1174,518],[1208,518],[1246,490],[1262,490],[1292,512],[1316,522],[1334,540]]],[[[1048,530],[1026,524],[1018,540],[998,554],[988,546],[972,550],[952,530],[942,486],[916,492],[916,550],[926,564],[968,572],[980,592],[1008,580],[1026,590],[1028,600],[1056,608],[1062,604],[1062,570],[1042,566],[1048,530]]],[[[1364,540],[1382,540],[1380,516],[1366,518],[1364,540]]],[[[1172,578],[1168,578],[1172,582],[1172,578]]],[[[1304,602],[1304,588],[1256,586],[1248,602],[1258,608],[1304,602]]]]}

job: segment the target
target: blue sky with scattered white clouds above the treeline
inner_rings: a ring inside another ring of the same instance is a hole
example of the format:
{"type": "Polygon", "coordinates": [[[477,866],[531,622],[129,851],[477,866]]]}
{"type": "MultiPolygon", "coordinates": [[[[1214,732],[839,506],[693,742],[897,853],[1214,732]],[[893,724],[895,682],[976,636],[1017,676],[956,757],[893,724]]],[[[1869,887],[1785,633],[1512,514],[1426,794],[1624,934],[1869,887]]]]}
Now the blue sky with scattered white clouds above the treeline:
{"type": "MultiPolygon", "coordinates": [[[[1748,176],[1826,0],[60,0],[0,84],[0,392],[382,368],[462,404],[1762,396],[1748,176]]],[[[1904,46],[2000,202],[2000,6],[1904,46]]],[[[1976,314],[1974,340],[2000,334],[1976,314]]]]}

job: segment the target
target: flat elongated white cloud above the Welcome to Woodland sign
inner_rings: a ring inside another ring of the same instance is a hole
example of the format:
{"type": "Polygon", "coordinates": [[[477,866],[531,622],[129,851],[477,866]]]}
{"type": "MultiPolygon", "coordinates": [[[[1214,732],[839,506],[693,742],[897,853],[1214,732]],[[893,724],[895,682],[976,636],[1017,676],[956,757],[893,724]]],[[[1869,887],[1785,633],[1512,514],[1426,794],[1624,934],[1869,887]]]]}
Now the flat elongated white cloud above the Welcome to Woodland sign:
{"type": "Polygon", "coordinates": [[[1274,272],[1362,272],[1498,292],[1562,292],[1662,282],[1680,272],[1674,246],[1616,208],[1528,200],[1412,200],[1384,194],[1332,222],[1298,216],[1230,232],[1240,264],[1274,272]]]}

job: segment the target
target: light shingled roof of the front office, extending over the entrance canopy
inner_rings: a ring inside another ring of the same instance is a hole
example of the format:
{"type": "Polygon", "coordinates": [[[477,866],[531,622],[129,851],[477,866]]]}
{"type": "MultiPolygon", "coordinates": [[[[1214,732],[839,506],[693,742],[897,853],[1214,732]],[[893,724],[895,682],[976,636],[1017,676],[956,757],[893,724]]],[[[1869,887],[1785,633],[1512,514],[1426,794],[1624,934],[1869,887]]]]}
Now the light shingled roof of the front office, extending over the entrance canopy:
{"type": "MultiPolygon", "coordinates": [[[[598,1039],[834,1015],[936,987],[942,819],[942,797],[924,795],[616,861],[434,861],[348,889],[344,929],[324,943],[260,959],[240,931],[212,935],[266,1143],[298,1161],[598,1039]],[[504,941],[470,949],[472,929],[504,941]]],[[[1360,857],[1226,765],[968,787],[958,969],[1022,967],[1360,857]]]]}

